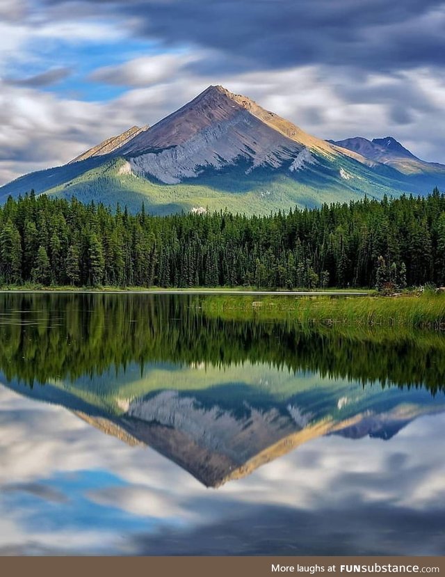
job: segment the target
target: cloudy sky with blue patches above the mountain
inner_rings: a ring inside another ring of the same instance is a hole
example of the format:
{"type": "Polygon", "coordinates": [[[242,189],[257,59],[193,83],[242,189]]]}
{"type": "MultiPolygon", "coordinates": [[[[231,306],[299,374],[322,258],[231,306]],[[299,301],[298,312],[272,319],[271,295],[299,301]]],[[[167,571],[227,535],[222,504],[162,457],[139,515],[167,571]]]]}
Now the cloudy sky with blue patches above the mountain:
{"type": "Polygon", "coordinates": [[[444,30],[437,0],[0,0],[0,184],[210,84],[445,163],[444,30]]]}

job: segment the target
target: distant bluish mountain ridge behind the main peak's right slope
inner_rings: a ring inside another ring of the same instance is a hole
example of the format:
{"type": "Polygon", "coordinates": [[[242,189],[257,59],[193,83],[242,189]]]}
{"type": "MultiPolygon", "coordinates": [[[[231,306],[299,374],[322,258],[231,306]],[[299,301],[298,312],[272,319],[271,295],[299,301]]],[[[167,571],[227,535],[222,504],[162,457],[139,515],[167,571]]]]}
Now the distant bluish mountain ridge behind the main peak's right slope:
{"type": "MultiPolygon", "coordinates": [[[[420,175],[424,177],[436,177],[437,182],[443,182],[445,166],[434,162],[423,161],[407,150],[392,136],[372,141],[355,136],[353,139],[341,141],[328,141],[351,152],[357,152],[366,159],[378,164],[391,166],[404,175],[420,175]]],[[[442,185],[443,186],[443,185],[442,185]]]]}

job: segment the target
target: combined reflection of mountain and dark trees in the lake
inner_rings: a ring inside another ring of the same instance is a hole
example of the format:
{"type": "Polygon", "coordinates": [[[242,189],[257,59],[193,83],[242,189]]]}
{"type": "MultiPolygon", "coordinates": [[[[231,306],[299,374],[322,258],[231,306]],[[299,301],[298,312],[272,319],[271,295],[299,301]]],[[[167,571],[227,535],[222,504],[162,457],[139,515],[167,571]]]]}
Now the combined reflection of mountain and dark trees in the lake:
{"type": "Polygon", "coordinates": [[[441,335],[229,322],[199,303],[8,294],[0,382],[149,445],[212,487],[312,438],[389,439],[445,409],[441,335]]]}

